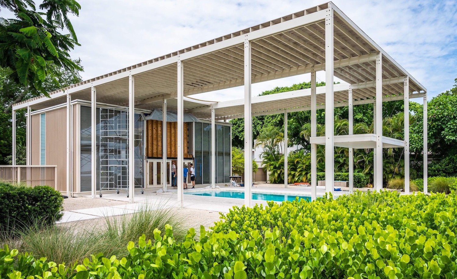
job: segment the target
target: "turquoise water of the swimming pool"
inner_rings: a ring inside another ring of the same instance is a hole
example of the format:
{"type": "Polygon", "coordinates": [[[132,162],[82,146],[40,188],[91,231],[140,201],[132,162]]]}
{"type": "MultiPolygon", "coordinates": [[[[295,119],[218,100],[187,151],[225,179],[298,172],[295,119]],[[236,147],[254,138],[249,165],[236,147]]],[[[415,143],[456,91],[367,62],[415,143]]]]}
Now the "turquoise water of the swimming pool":
{"type": "MultiPolygon", "coordinates": [[[[237,191],[214,191],[209,190],[206,192],[186,192],[186,195],[197,195],[197,196],[208,196],[208,197],[223,197],[223,198],[235,198],[235,199],[244,199],[244,192],[237,191]]],[[[253,200],[274,200],[274,201],[284,201],[284,200],[295,200],[295,198],[304,199],[311,201],[311,197],[307,196],[298,196],[298,195],[278,195],[278,194],[265,194],[265,193],[252,193],[253,200]]]]}

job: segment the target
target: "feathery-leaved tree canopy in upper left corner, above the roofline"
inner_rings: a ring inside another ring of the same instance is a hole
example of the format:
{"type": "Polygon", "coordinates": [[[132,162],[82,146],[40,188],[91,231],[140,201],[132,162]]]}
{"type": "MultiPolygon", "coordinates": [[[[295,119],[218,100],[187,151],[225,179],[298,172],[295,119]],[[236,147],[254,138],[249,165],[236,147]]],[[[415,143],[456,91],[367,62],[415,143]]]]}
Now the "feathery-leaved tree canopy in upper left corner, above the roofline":
{"type": "Polygon", "coordinates": [[[10,69],[8,79],[23,88],[5,106],[7,113],[29,91],[48,95],[45,83],[59,69],[82,70],[69,55],[79,45],[69,15],[78,16],[81,6],[75,0],[43,0],[37,9],[32,0],[1,0],[0,7],[15,15],[0,19],[0,67],[10,69]]]}

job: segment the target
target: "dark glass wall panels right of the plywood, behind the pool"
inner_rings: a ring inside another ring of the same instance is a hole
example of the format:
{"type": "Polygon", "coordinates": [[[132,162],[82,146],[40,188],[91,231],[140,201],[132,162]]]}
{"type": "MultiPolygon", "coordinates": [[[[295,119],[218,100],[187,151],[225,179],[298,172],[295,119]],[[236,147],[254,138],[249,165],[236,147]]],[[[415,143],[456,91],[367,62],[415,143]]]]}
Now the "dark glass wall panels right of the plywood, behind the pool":
{"type": "MultiPolygon", "coordinates": [[[[211,183],[211,123],[195,123],[196,184],[211,183]]],[[[216,125],[216,183],[230,179],[230,126],[216,125]]]]}

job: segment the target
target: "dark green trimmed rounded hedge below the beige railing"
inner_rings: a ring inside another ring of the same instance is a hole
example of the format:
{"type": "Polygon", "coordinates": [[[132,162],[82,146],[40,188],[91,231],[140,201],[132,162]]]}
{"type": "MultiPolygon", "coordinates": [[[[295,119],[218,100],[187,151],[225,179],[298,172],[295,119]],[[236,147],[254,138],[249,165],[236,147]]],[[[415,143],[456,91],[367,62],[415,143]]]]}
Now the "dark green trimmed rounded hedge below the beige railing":
{"type": "Polygon", "coordinates": [[[39,222],[53,225],[62,219],[64,198],[49,186],[0,183],[0,232],[21,231],[39,222]]]}

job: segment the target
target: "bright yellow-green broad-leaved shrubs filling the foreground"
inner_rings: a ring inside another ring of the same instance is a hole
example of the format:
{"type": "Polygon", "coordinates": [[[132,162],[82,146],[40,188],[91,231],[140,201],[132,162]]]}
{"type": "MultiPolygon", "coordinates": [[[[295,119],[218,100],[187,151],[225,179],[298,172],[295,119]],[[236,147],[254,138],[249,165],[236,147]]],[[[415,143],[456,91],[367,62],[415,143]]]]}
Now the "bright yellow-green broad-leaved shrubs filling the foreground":
{"type": "Polygon", "coordinates": [[[457,200],[396,192],[234,207],[212,232],[172,227],[129,242],[124,258],[64,265],[0,251],[0,278],[448,278],[457,277],[457,200]],[[29,277],[30,276],[30,277],[29,277]],[[51,277],[52,276],[52,277],[51,277]]]}

